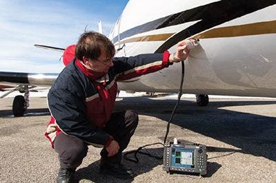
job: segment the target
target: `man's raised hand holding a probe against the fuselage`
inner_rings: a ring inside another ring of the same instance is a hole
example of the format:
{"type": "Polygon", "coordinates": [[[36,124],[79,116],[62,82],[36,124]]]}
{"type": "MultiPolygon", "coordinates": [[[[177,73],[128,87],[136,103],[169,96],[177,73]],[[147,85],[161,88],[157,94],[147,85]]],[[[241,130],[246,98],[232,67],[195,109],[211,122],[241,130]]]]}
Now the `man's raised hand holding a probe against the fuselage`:
{"type": "Polygon", "coordinates": [[[194,39],[186,39],[183,41],[180,41],[177,43],[177,50],[175,53],[170,54],[169,61],[170,63],[178,63],[180,61],[184,61],[188,54],[190,53],[190,50],[188,49],[188,44],[192,43],[191,41],[195,41],[194,39]]]}

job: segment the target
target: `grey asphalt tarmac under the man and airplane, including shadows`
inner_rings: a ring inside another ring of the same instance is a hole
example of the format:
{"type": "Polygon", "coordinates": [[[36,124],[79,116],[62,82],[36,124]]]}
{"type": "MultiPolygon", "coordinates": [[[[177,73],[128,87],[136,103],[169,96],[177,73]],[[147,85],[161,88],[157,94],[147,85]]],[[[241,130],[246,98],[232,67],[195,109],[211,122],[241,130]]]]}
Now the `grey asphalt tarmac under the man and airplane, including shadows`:
{"type": "MultiPolygon", "coordinates": [[[[12,116],[12,98],[0,107],[0,182],[55,182],[57,153],[44,138],[50,118],[46,98],[30,98],[26,115],[12,116]]],[[[175,99],[119,98],[115,109],[137,109],[139,126],[125,152],[144,144],[163,142],[175,99]]],[[[78,182],[276,182],[276,100],[210,99],[197,107],[194,99],[181,100],[168,136],[205,144],[205,177],[168,174],[162,160],[138,155],[139,163],[123,160],[137,176],[119,180],[99,174],[99,151],[90,147],[76,172],[78,182]]],[[[161,156],[161,145],[147,151],[161,156]]]]}

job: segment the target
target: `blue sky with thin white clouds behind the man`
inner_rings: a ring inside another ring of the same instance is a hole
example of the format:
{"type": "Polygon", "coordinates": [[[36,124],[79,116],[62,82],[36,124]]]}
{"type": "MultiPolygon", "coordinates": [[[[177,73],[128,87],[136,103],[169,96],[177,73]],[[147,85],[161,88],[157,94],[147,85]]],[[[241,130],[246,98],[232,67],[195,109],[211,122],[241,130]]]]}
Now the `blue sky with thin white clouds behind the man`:
{"type": "Polygon", "coordinates": [[[34,44],[66,47],[87,30],[108,35],[128,0],[0,1],[0,71],[60,72],[61,52],[34,44]]]}

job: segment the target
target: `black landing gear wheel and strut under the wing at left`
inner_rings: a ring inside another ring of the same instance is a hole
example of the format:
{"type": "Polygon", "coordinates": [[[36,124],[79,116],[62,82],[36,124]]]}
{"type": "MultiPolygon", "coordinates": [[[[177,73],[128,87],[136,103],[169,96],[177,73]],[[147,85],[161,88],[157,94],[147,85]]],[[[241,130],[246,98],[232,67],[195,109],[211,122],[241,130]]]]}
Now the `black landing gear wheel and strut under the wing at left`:
{"type": "Polygon", "coordinates": [[[24,93],[24,96],[15,96],[12,103],[12,112],[16,117],[23,116],[26,109],[29,107],[29,87],[25,85],[19,89],[19,92],[24,93]]]}

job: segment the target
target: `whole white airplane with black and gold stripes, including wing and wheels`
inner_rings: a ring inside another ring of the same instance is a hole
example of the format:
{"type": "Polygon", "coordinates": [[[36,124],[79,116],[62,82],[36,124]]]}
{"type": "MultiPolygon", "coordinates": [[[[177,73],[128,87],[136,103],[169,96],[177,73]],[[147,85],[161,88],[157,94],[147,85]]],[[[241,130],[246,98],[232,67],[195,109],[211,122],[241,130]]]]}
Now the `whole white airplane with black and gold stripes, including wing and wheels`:
{"type": "MultiPolygon", "coordinates": [[[[199,40],[184,61],[183,86],[184,93],[196,94],[198,105],[208,105],[210,94],[276,97],[275,12],[275,0],[130,0],[108,37],[115,56],[173,52],[183,39],[199,40]]],[[[12,83],[17,87],[10,92],[24,93],[14,98],[14,116],[27,109],[30,89],[51,86],[57,76],[0,72],[1,89],[12,83]]],[[[126,92],[178,92],[180,76],[181,66],[174,64],[118,87],[126,92]]]]}

